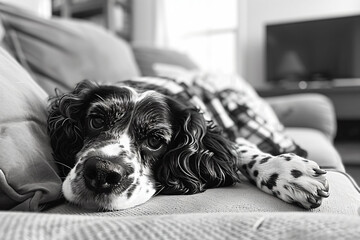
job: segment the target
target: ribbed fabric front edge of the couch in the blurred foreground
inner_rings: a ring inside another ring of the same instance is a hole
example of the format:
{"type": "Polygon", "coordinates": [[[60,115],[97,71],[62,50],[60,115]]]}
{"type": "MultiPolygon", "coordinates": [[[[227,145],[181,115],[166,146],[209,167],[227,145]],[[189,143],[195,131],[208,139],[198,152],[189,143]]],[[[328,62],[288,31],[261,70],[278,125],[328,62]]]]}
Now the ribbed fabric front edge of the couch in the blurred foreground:
{"type": "Polygon", "coordinates": [[[358,239],[360,218],[304,212],[190,213],[157,216],[74,216],[0,213],[3,240],[13,239],[358,239]]]}

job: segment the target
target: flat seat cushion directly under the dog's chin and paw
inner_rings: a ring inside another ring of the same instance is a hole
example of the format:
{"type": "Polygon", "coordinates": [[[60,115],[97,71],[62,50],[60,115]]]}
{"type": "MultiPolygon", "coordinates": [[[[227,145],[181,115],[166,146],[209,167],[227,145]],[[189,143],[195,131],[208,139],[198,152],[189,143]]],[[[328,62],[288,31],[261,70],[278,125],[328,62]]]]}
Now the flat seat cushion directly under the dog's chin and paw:
{"type": "Polygon", "coordinates": [[[350,176],[328,170],[330,196],[319,208],[304,210],[264,193],[244,181],[235,186],[209,189],[195,195],[158,195],[143,205],[115,212],[93,212],[62,204],[49,213],[87,214],[92,216],[145,216],[160,214],[209,213],[209,212],[317,212],[358,215],[359,187],[350,176]]]}

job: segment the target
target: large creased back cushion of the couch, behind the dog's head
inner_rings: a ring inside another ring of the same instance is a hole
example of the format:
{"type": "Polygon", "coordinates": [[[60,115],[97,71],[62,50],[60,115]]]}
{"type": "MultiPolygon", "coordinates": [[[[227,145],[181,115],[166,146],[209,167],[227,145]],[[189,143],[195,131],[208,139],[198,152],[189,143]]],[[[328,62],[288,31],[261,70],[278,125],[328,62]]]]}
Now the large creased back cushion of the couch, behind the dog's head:
{"type": "Polygon", "coordinates": [[[85,21],[43,19],[0,4],[6,43],[17,60],[50,94],[84,79],[115,82],[138,76],[129,45],[85,21]]]}

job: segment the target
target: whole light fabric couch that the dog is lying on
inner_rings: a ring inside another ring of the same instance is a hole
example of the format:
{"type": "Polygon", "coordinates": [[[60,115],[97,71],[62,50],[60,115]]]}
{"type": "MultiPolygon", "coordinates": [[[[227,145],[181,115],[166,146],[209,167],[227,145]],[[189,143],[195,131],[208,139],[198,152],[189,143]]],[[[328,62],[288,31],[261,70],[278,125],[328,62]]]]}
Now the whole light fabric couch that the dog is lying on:
{"type": "Polygon", "coordinates": [[[286,134],[327,170],[330,197],[304,210],[247,181],[187,196],[158,195],[114,212],[62,201],[46,133],[47,101],[82,79],[157,76],[158,66],[192,71],[186,55],[131,46],[91,23],[42,19],[0,4],[1,239],[356,239],[360,190],[333,146],[334,109],[319,94],[265,99],[286,134]]]}

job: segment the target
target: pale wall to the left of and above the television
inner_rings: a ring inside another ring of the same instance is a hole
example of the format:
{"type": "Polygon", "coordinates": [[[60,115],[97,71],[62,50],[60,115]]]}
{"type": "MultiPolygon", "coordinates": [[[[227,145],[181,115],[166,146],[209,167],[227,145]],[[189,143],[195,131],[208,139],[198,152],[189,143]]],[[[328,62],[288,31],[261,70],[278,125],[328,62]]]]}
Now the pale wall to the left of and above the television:
{"type": "Polygon", "coordinates": [[[265,82],[266,23],[359,14],[360,0],[247,0],[241,7],[240,15],[246,14],[246,19],[242,17],[246,28],[240,31],[244,62],[239,63],[239,69],[252,85],[261,86],[265,82]]]}

